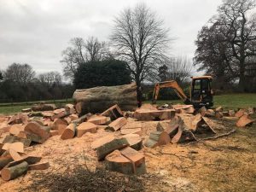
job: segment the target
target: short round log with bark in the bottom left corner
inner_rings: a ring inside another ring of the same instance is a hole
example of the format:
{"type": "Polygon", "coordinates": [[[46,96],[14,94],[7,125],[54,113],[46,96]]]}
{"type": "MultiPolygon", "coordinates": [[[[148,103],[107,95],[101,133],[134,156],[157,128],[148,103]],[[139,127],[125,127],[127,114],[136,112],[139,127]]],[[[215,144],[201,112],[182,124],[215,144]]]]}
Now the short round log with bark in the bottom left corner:
{"type": "Polygon", "coordinates": [[[28,164],[26,161],[20,163],[16,166],[11,166],[8,168],[3,168],[1,171],[1,176],[4,181],[9,181],[16,177],[20,177],[21,175],[25,174],[28,168],[28,164]]]}

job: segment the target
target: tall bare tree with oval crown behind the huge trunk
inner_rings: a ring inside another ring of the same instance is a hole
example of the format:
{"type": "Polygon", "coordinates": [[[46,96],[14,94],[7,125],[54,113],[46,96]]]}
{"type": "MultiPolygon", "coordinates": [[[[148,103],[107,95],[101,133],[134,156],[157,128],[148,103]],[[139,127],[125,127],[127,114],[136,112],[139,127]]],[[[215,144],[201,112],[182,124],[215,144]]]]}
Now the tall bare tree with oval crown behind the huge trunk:
{"type": "Polygon", "coordinates": [[[111,40],[116,56],[128,63],[132,78],[137,84],[137,102],[142,102],[141,83],[149,73],[155,73],[166,61],[170,38],[163,21],[148,9],[138,4],[125,9],[114,20],[111,40]]]}

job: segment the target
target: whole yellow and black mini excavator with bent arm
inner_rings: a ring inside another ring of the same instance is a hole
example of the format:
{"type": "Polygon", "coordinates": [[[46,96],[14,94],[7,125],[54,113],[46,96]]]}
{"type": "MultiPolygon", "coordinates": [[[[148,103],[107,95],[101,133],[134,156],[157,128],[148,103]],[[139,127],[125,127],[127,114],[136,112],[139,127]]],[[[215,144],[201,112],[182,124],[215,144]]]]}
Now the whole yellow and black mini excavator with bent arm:
{"type": "Polygon", "coordinates": [[[192,104],[194,108],[211,108],[213,106],[212,76],[191,77],[190,96],[184,94],[183,89],[175,80],[164,81],[154,85],[152,103],[155,103],[161,88],[173,88],[184,104],[192,104]]]}

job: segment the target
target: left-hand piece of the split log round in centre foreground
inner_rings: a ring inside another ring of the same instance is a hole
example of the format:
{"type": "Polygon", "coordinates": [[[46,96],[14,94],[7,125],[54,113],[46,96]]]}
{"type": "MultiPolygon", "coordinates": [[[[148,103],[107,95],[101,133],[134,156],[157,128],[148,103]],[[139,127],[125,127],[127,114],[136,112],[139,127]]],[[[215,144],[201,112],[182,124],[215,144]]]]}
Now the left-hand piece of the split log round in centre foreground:
{"type": "Polygon", "coordinates": [[[106,168],[113,172],[121,172],[124,174],[132,174],[134,172],[131,160],[128,160],[122,155],[119,150],[115,150],[111,154],[108,154],[108,156],[106,156],[105,164],[106,168]]]}

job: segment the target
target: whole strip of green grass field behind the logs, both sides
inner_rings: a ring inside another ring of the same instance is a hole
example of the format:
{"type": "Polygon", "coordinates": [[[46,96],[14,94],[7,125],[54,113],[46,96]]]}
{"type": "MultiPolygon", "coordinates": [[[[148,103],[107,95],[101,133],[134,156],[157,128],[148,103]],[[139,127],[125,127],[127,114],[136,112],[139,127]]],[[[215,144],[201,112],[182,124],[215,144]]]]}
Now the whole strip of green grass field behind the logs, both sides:
{"type": "MultiPolygon", "coordinates": [[[[73,103],[72,99],[67,100],[50,100],[47,103],[55,103],[57,107],[61,107],[66,103],[73,103]]],[[[253,94],[229,94],[222,96],[214,96],[214,107],[222,106],[223,108],[248,108],[256,107],[256,93],[253,94]]],[[[38,102],[15,102],[15,103],[0,103],[0,113],[10,114],[20,112],[22,108],[31,108],[32,104],[38,102]]],[[[150,103],[147,101],[146,103],[150,103]]],[[[157,104],[164,103],[183,103],[181,100],[157,101],[157,104]]]]}

